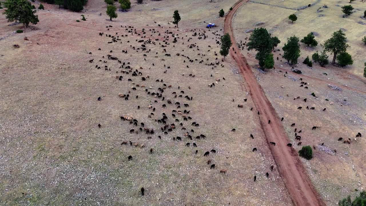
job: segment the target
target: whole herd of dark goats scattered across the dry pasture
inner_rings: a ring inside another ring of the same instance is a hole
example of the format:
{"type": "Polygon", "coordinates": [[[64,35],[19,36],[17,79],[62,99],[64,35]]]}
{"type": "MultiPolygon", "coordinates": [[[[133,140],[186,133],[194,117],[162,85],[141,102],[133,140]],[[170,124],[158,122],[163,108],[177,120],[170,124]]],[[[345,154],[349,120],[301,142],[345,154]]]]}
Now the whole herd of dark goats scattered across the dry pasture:
{"type": "MultiPolygon", "coordinates": [[[[171,58],[171,54],[166,53],[167,52],[167,48],[171,43],[173,43],[173,47],[175,47],[175,43],[178,43],[178,41],[182,41],[182,44],[184,45],[184,43],[187,43],[186,46],[188,49],[192,49],[192,50],[197,50],[199,51],[200,48],[198,47],[198,45],[196,43],[190,43],[190,40],[192,41],[193,38],[197,38],[198,40],[200,39],[206,39],[208,38],[208,35],[206,35],[206,31],[202,30],[202,32],[195,32],[195,30],[191,30],[191,32],[194,32],[192,37],[187,37],[186,35],[186,42],[184,42],[184,37],[179,37],[179,35],[170,32],[169,30],[165,30],[164,31],[164,36],[161,36],[162,32],[158,32],[155,29],[149,29],[149,32],[147,32],[147,30],[142,29],[137,31],[133,26],[121,26],[122,28],[125,29],[125,32],[127,32],[127,34],[118,34],[118,32],[116,32],[115,34],[104,34],[104,32],[100,32],[99,36],[101,37],[107,37],[108,38],[108,44],[129,44],[130,41],[124,42],[122,43],[122,38],[127,37],[129,35],[131,36],[136,36],[139,37],[140,39],[136,39],[135,41],[138,43],[141,43],[141,45],[139,45],[138,47],[136,46],[132,46],[132,44],[130,43],[130,49],[134,52],[142,52],[143,54],[141,55],[141,60],[143,59],[144,61],[146,61],[146,57],[151,54],[154,53],[152,51],[151,48],[148,48],[148,46],[150,44],[153,45],[160,45],[160,47],[162,47],[162,50],[160,52],[155,52],[155,54],[153,54],[152,56],[154,58],[158,58],[159,53],[164,54],[165,58],[171,58]],[[147,33],[150,33],[150,36],[147,35],[147,33]],[[155,38],[152,38],[153,36],[156,36],[155,38]],[[173,41],[171,41],[171,43],[169,43],[169,39],[173,39],[173,41]],[[161,41],[162,40],[162,41],[161,41]]],[[[161,26],[159,26],[161,27],[161,26]]],[[[111,32],[110,29],[112,30],[113,27],[112,26],[107,26],[107,32],[111,32]]],[[[161,27],[162,28],[162,27],[161,27]]],[[[200,30],[201,31],[201,30],[200,30]]],[[[217,40],[220,37],[219,32],[212,32],[212,34],[214,36],[216,36],[216,43],[219,44],[220,42],[217,40]]],[[[213,38],[214,39],[214,38],[213,38]]],[[[240,43],[240,46],[243,48],[243,45],[245,45],[246,43],[240,43]]],[[[207,52],[210,51],[210,45],[208,45],[209,50],[207,52]]],[[[101,51],[102,49],[99,48],[99,51],[101,51]]],[[[151,122],[156,122],[155,125],[160,124],[160,130],[156,130],[153,128],[153,126],[145,126],[145,123],[142,121],[139,121],[138,119],[135,119],[133,116],[131,115],[122,115],[120,117],[120,121],[123,122],[127,122],[127,124],[129,124],[130,126],[132,126],[132,128],[130,129],[130,133],[131,134],[142,134],[142,133],[146,133],[147,135],[147,140],[152,139],[152,135],[157,133],[157,137],[159,139],[162,139],[162,135],[168,135],[170,132],[172,132],[173,130],[176,130],[179,128],[179,130],[182,131],[182,135],[181,136],[176,136],[176,137],[172,137],[173,141],[183,141],[183,139],[188,140],[188,141],[193,141],[193,139],[195,139],[196,142],[187,142],[185,144],[186,147],[198,147],[198,141],[200,139],[205,139],[206,135],[204,134],[199,134],[199,135],[194,135],[194,127],[198,127],[199,126],[199,122],[194,121],[193,117],[190,116],[190,110],[187,110],[187,108],[189,107],[189,104],[187,102],[190,102],[193,100],[193,96],[189,96],[187,95],[187,91],[182,90],[182,88],[180,86],[176,87],[170,84],[166,84],[165,82],[163,82],[163,79],[157,79],[155,82],[155,84],[157,84],[157,89],[155,87],[148,87],[147,83],[144,84],[144,82],[148,81],[149,83],[152,83],[152,81],[150,81],[150,75],[146,75],[143,74],[143,68],[139,67],[139,69],[133,68],[132,64],[130,62],[122,62],[117,56],[112,56],[113,54],[113,50],[109,50],[107,51],[108,53],[105,56],[102,56],[102,58],[99,60],[99,63],[97,63],[95,65],[95,68],[97,69],[104,69],[106,71],[112,71],[111,67],[108,67],[107,62],[108,61],[117,61],[119,68],[115,69],[116,72],[116,81],[124,81],[127,78],[127,82],[131,82],[131,89],[127,89],[127,91],[125,93],[119,93],[118,96],[120,98],[123,98],[125,101],[128,101],[129,98],[132,98],[134,96],[134,98],[138,99],[139,96],[137,95],[138,92],[145,92],[145,95],[147,97],[150,97],[152,99],[152,103],[146,106],[143,106],[144,108],[147,108],[147,110],[149,110],[149,114],[147,115],[148,118],[152,119],[151,122]],[[173,91],[172,91],[173,90],[173,91]],[[169,92],[167,92],[169,91],[169,92]],[[168,93],[168,94],[167,94],[168,93]],[[171,96],[169,96],[171,95],[171,96]],[[183,96],[184,95],[184,96],[183,96]],[[168,98],[169,97],[169,98],[168,98]],[[177,99],[181,99],[181,100],[177,100],[177,99]],[[181,103],[183,101],[186,101],[186,103],[181,103]],[[159,105],[160,102],[160,106],[159,105]],[[181,108],[181,106],[183,106],[183,108],[181,108]],[[158,113],[158,110],[164,110],[166,112],[166,110],[168,108],[172,108],[171,110],[171,114],[166,114],[164,112],[161,112],[160,114],[158,113]],[[188,121],[190,121],[190,123],[188,124],[188,121]],[[187,124],[184,124],[184,122],[187,122],[187,124]],[[191,128],[188,128],[191,127],[191,128]],[[184,138],[183,138],[184,137],[184,138]]],[[[184,52],[184,49],[182,49],[182,52],[184,52]]],[[[123,54],[128,54],[127,50],[122,50],[123,54]]],[[[203,52],[205,53],[205,52],[203,52]]],[[[92,54],[91,52],[89,52],[89,54],[92,54]]],[[[217,52],[214,51],[214,55],[217,56],[217,52]]],[[[214,62],[210,62],[209,58],[205,57],[205,54],[198,54],[197,56],[199,56],[200,58],[191,58],[187,55],[183,55],[180,53],[177,53],[176,56],[182,56],[185,58],[185,60],[183,60],[183,63],[190,62],[198,62],[200,64],[205,64],[206,66],[212,67],[212,69],[214,69],[214,67],[217,66],[221,66],[224,67],[224,65],[222,63],[220,63],[220,60],[218,58],[214,59],[214,62]],[[186,62],[187,60],[187,62],[186,62]]],[[[124,59],[127,59],[128,56],[124,57],[124,59]]],[[[160,59],[161,62],[164,62],[165,59],[160,59]]],[[[90,59],[89,63],[93,63],[94,59],[90,59]]],[[[151,63],[152,66],[155,66],[154,63],[151,63]]],[[[189,68],[189,65],[186,65],[187,68],[189,68]]],[[[163,72],[164,74],[169,72],[170,66],[164,65],[163,68],[163,72]]],[[[182,74],[182,76],[184,76],[184,74],[182,74]]],[[[189,74],[188,75],[191,78],[194,78],[195,75],[194,74],[189,74]]],[[[212,74],[211,74],[211,77],[212,74]]],[[[215,87],[215,85],[218,84],[218,82],[220,82],[220,80],[224,80],[225,78],[216,78],[216,82],[212,82],[210,83],[208,86],[210,88],[215,87]],[[216,84],[215,84],[216,83],[216,84]]],[[[300,79],[302,81],[302,79],[300,79]]],[[[307,85],[307,82],[301,82],[300,87],[304,87],[304,85],[307,85]]],[[[190,89],[190,87],[187,87],[188,90],[190,89]]],[[[307,88],[305,86],[305,88],[307,88]]],[[[294,98],[294,100],[299,99],[300,97],[298,96],[297,98],[294,98]]],[[[98,101],[102,101],[102,98],[99,97],[97,98],[98,101]]],[[[306,102],[306,98],[303,99],[304,102],[306,102]]],[[[232,100],[232,102],[234,102],[234,99],[232,100]]],[[[247,102],[247,99],[244,99],[244,102],[247,102]]],[[[238,104],[239,108],[243,108],[243,104],[238,104]]],[[[310,110],[315,110],[315,107],[306,107],[307,109],[310,110]]],[[[137,106],[137,109],[141,109],[140,106],[137,106]]],[[[299,110],[302,109],[302,107],[298,107],[299,110]]],[[[250,109],[253,110],[253,107],[250,109]]],[[[323,111],[325,111],[326,108],[323,109],[323,111]]],[[[257,112],[258,115],[260,114],[259,111],[257,112]]],[[[284,118],[281,118],[281,121],[283,121],[284,118]]],[[[270,119],[268,120],[268,124],[270,124],[270,119]]],[[[146,123],[148,124],[148,123],[146,123]]],[[[151,124],[153,125],[153,124],[151,124]]],[[[295,123],[293,123],[291,125],[291,127],[294,127],[295,123]]],[[[101,128],[102,125],[98,124],[98,127],[101,128]]],[[[317,129],[317,126],[313,126],[313,130],[317,129]]],[[[235,132],[235,128],[232,129],[232,132],[235,132]]],[[[298,145],[301,145],[301,136],[298,135],[300,133],[302,133],[302,130],[297,130],[297,128],[295,128],[295,140],[299,140],[298,145]]],[[[359,137],[361,137],[361,133],[358,133],[359,137]]],[[[208,137],[207,137],[208,138],[208,137]]],[[[252,134],[250,134],[250,138],[254,139],[254,136],[252,134]]],[[[342,138],[339,138],[339,141],[341,141],[342,138]]],[[[344,141],[344,143],[348,143],[350,144],[351,139],[347,139],[344,141]]],[[[324,144],[324,143],[323,143],[324,144]]],[[[126,141],[122,141],[121,145],[129,145],[131,147],[140,147],[140,148],[145,148],[145,144],[143,143],[138,143],[138,142],[132,142],[130,140],[126,140],[126,141]]],[[[276,146],[275,142],[270,142],[271,146],[276,146]]],[[[292,144],[288,143],[287,146],[291,147],[292,144]]],[[[257,151],[257,148],[253,148],[252,149],[253,152],[257,151]]],[[[154,153],[154,149],[150,148],[149,149],[150,154],[154,153]]],[[[198,149],[196,149],[195,151],[193,150],[194,154],[197,155],[199,153],[198,149]]],[[[203,153],[203,157],[208,157],[210,154],[216,154],[216,150],[215,149],[211,149],[210,151],[206,151],[203,153]]],[[[202,153],[201,153],[202,154],[202,153]]],[[[129,155],[127,157],[128,161],[133,161],[133,157],[132,155],[129,155]]],[[[207,159],[206,163],[209,165],[210,169],[215,169],[215,163],[213,162],[213,160],[211,159],[207,159]]],[[[270,170],[273,171],[274,166],[271,165],[270,170]]],[[[226,173],[227,169],[221,169],[220,173],[226,173]]],[[[266,172],[266,177],[269,177],[269,173],[266,172]]],[[[257,180],[257,176],[254,176],[254,181],[257,180]]],[[[145,189],[142,187],[141,188],[141,194],[144,195],[145,193],[145,189]]]]}

